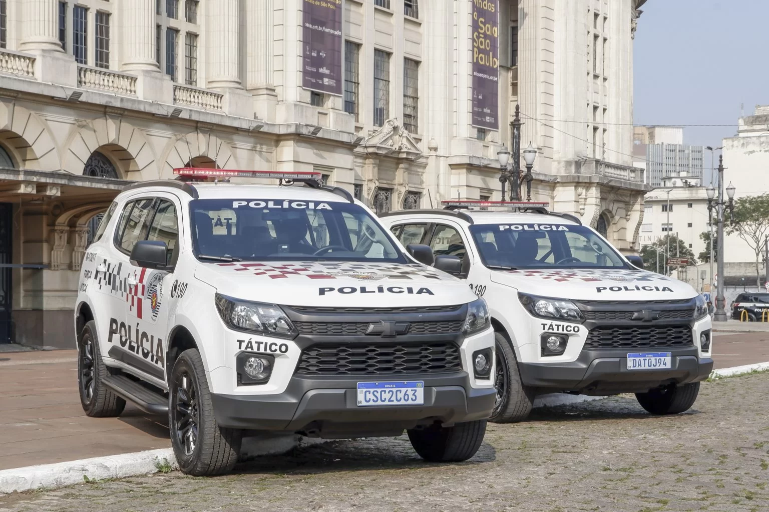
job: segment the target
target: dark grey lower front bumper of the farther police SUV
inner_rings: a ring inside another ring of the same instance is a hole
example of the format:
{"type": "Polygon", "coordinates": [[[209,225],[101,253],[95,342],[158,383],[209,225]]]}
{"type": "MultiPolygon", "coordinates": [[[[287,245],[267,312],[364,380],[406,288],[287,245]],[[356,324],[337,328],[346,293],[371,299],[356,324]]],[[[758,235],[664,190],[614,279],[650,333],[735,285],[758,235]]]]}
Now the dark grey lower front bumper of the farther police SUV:
{"type": "Polygon", "coordinates": [[[666,370],[628,370],[628,352],[583,350],[574,362],[519,362],[518,370],[524,385],[533,388],[598,396],[644,392],[670,383],[699,382],[713,371],[713,359],[700,358],[695,346],[655,349],[655,352],[671,352],[671,368],[666,370]]]}

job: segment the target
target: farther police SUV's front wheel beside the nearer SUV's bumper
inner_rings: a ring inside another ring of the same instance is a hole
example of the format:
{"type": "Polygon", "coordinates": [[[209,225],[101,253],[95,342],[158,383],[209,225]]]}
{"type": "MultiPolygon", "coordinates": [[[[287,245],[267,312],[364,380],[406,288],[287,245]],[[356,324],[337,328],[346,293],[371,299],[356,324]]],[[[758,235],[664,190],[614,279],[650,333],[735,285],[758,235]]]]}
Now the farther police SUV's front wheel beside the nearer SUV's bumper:
{"type": "Polygon", "coordinates": [[[493,423],[516,423],[524,420],[534,404],[534,392],[521,382],[518,372],[518,359],[501,332],[494,332],[496,340],[497,373],[494,385],[497,388],[497,401],[491,411],[489,421],[493,423]]]}

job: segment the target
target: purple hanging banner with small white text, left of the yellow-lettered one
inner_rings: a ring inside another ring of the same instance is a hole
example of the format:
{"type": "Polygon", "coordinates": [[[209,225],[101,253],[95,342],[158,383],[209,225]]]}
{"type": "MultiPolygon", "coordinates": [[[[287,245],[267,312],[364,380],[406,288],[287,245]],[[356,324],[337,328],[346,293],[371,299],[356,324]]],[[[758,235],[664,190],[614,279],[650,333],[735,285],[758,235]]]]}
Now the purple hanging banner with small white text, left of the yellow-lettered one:
{"type": "Polygon", "coordinates": [[[342,0],[304,0],[302,87],[327,94],[342,94],[344,61],[342,0]]]}

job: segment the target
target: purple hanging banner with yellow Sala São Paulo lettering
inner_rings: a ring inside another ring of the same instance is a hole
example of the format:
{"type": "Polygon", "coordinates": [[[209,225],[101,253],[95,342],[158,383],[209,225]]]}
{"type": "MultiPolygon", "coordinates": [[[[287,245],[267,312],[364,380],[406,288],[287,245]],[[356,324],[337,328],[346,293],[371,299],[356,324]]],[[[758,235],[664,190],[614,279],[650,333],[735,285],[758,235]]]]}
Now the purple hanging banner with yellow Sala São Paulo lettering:
{"type": "Polygon", "coordinates": [[[499,130],[499,0],[473,2],[473,126],[499,130]]]}

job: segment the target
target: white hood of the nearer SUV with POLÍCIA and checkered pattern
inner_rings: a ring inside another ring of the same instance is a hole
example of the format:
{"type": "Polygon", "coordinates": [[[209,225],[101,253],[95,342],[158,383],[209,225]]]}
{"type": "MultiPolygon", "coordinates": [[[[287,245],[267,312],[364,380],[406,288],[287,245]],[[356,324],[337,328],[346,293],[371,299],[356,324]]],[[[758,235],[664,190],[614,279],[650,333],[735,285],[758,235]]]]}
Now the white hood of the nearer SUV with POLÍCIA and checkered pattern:
{"type": "Polygon", "coordinates": [[[236,299],[285,306],[449,306],[477,297],[459,279],[393,263],[201,263],[195,277],[236,299]]]}

